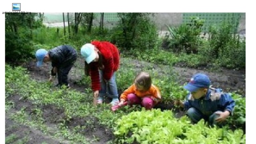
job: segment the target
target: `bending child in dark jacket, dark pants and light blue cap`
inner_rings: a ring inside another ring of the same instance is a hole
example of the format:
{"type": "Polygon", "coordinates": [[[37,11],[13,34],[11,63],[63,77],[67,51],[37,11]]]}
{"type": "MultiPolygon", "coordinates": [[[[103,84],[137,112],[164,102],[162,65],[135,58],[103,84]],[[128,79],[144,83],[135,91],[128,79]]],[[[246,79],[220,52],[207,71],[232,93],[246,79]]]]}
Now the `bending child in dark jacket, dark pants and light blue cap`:
{"type": "Polygon", "coordinates": [[[77,52],[69,45],[57,46],[49,51],[39,49],[36,51],[37,66],[42,66],[43,62],[52,62],[52,70],[49,81],[52,82],[53,76],[58,74],[58,84],[56,86],[68,84],[68,73],[76,62],[77,52]]]}

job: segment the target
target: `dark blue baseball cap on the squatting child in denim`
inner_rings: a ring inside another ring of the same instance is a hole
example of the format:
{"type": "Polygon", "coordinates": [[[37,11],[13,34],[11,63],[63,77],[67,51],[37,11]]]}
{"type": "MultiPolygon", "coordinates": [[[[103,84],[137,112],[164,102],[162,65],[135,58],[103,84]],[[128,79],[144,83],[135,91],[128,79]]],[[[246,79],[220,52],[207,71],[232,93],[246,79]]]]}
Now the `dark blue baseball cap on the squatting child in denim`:
{"type": "Polygon", "coordinates": [[[184,88],[190,92],[195,92],[199,88],[209,88],[211,84],[210,78],[205,74],[195,74],[184,88]]]}

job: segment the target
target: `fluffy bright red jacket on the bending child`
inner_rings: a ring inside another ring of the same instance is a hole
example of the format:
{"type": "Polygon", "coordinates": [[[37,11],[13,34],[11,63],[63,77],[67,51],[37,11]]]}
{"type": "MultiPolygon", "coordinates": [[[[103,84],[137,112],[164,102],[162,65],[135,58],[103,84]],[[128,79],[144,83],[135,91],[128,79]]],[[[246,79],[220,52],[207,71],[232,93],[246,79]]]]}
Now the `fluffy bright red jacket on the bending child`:
{"type": "MultiPolygon", "coordinates": [[[[111,44],[110,42],[92,41],[91,44],[96,46],[96,48],[98,48],[102,54],[104,65],[104,69],[102,70],[103,78],[105,80],[110,80],[113,73],[118,70],[120,60],[119,50],[114,44],[111,44]]],[[[92,90],[100,90],[98,62],[90,63],[90,76],[92,81],[92,90]]]]}

